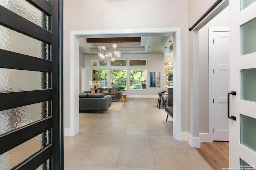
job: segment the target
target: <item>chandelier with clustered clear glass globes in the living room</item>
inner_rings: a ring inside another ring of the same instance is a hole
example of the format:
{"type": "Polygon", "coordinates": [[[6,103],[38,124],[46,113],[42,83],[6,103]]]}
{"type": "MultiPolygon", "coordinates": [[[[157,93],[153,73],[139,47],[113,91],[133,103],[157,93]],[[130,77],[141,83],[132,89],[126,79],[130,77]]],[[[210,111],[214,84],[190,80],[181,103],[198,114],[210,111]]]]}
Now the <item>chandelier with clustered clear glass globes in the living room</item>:
{"type": "Polygon", "coordinates": [[[98,50],[100,51],[103,51],[103,52],[100,52],[98,53],[98,56],[101,58],[101,59],[105,59],[105,58],[109,58],[110,57],[110,60],[112,62],[116,61],[116,59],[114,58],[114,56],[116,56],[116,58],[120,58],[121,57],[121,53],[120,51],[116,51],[116,48],[117,48],[117,45],[116,44],[113,44],[112,45],[112,48],[114,50],[111,50],[109,48],[109,38],[108,38],[108,49],[111,51],[111,52],[106,52],[106,47],[105,46],[99,46],[98,47],[98,50]]]}

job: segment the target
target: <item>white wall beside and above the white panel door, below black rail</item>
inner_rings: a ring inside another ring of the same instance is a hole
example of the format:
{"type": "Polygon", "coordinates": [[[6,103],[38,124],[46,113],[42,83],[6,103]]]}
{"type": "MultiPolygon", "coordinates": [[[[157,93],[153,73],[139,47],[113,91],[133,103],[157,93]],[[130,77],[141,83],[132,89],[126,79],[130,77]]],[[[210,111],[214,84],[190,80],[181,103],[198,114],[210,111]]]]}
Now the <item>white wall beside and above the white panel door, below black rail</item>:
{"type": "Polygon", "coordinates": [[[229,26],[229,6],[199,30],[199,133],[208,133],[209,74],[208,29],[229,26]]]}

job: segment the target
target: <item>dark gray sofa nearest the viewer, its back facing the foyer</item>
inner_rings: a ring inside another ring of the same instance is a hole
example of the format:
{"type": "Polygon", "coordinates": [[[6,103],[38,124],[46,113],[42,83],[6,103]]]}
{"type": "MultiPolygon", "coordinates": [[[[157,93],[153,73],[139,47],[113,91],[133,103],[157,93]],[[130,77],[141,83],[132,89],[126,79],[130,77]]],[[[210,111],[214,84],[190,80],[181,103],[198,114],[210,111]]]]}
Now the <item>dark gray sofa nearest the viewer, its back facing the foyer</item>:
{"type": "Polygon", "coordinates": [[[80,93],[79,94],[79,110],[99,110],[108,109],[112,103],[112,96],[102,93],[80,93]]]}

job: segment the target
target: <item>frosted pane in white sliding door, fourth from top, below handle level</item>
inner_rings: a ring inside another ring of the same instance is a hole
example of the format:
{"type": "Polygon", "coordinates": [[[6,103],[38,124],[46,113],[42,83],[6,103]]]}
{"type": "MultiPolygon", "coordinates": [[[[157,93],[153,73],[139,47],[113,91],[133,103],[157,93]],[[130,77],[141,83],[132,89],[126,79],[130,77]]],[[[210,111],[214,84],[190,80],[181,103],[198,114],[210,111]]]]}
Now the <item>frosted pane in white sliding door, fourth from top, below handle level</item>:
{"type": "Polygon", "coordinates": [[[241,115],[241,144],[256,152],[256,119],[241,115]]]}

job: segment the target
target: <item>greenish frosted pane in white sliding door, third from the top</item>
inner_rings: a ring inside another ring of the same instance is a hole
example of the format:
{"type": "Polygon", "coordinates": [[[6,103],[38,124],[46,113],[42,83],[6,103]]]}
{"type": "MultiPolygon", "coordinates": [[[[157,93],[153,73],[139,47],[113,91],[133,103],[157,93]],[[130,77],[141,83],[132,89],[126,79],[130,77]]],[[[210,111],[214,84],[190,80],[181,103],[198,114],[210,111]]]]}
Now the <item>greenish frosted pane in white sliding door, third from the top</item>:
{"type": "Polygon", "coordinates": [[[241,100],[256,102],[256,68],[241,70],[241,100]]]}

